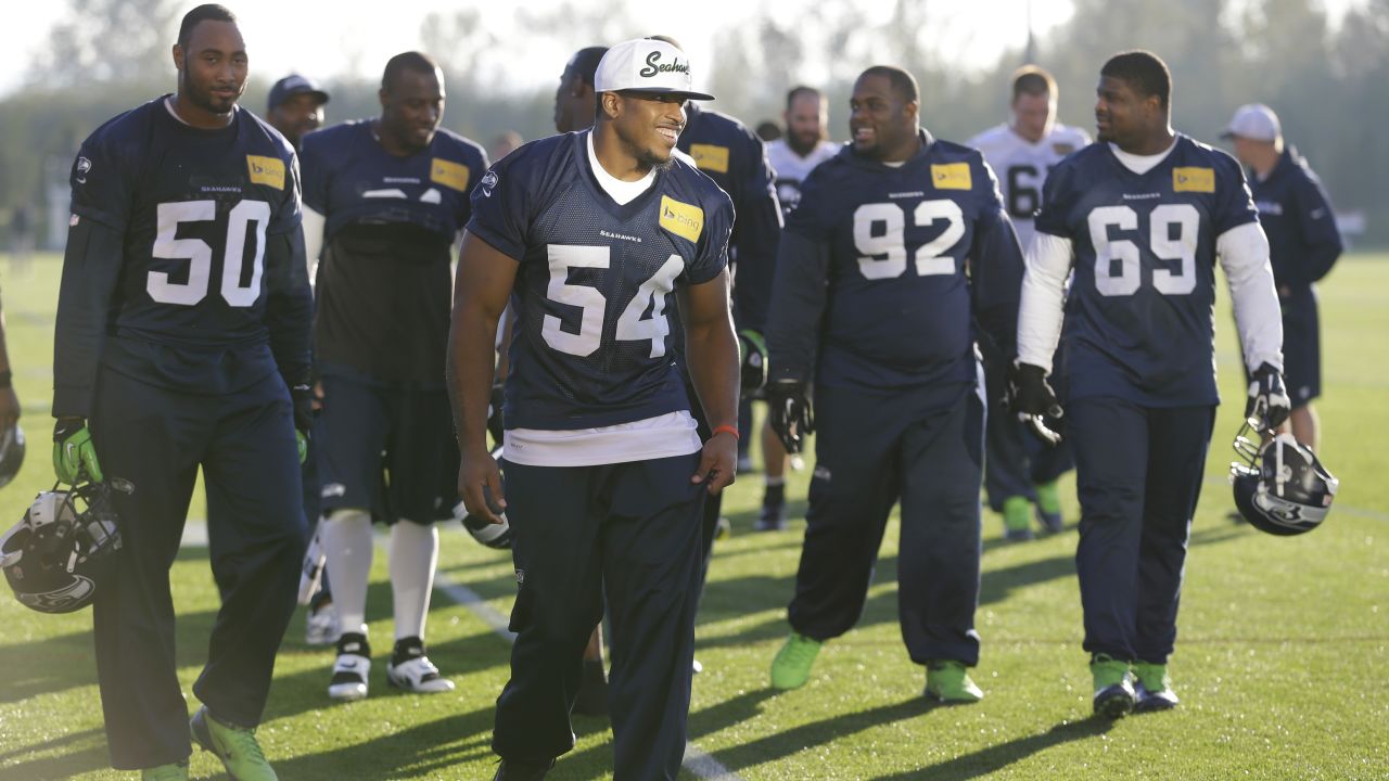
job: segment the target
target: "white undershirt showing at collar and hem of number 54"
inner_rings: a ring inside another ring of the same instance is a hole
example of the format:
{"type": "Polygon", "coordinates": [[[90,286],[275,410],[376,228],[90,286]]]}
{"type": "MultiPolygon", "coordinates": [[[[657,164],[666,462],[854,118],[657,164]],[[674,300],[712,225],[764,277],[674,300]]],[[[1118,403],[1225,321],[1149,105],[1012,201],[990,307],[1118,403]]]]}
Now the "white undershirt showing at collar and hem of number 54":
{"type": "MultiPolygon", "coordinates": [[[[593,176],[618,204],[631,203],[656,182],[654,170],[635,182],[608,174],[593,151],[592,131],[588,133],[588,149],[593,176]]],[[[529,467],[593,467],[672,459],[689,456],[704,446],[689,410],[597,428],[513,428],[501,442],[506,460],[529,467]]]]}

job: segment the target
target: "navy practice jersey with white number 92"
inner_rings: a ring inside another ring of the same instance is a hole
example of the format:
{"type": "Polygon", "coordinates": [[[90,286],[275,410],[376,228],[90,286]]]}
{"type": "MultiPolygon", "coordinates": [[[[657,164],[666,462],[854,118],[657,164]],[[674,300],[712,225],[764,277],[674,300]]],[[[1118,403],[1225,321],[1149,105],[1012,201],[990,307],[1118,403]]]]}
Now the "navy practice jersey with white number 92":
{"type": "MultiPolygon", "coordinates": [[[[786,232],[829,249],[820,382],[949,386],[942,403],[950,403],[975,381],[983,311],[1007,313],[989,331],[1011,350],[1022,257],[979,153],[925,131],[921,142],[900,167],[845,146],[801,185],[786,232]]],[[[783,256],[779,264],[797,260],[783,256]]],[[[792,270],[778,270],[778,278],[782,271],[792,270]]]]}

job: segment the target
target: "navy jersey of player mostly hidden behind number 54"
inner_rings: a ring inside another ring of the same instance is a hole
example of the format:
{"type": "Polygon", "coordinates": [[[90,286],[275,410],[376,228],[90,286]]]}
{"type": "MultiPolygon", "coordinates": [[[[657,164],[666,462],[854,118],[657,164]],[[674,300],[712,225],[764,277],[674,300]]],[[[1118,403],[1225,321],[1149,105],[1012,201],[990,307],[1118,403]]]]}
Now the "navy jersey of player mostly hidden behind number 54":
{"type": "Polygon", "coordinates": [[[693,157],[699,170],[733,200],[733,320],[739,328],[761,331],[782,229],[775,174],[763,139],[738,120],[694,103],[685,104],[685,114],[676,149],[693,157]]]}

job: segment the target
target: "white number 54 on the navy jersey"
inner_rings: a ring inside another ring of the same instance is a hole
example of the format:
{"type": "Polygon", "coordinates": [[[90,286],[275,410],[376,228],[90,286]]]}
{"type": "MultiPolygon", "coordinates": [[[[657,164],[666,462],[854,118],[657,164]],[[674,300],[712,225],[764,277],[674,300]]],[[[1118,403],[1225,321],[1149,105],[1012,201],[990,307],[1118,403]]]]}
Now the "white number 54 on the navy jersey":
{"type": "MultiPolygon", "coordinates": [[[[571,356],[592,356],[601,346],[607,299],[597,288],[571,285],[569,270],[607,268],[611,264],[611,256],[613,250],[608,247],[549,246],[550,285],[546,288],[546,297],[556,303],[576,306],[582,314],[579,315],[578,334],[564,331],[558,317],[544,315],[540,336],[544,338],[546,345],[571,356]]],[[[685,261],[681,256],[672,254],[650,279],[642,282],[636,295],[617,318],[617,339],[622,342],[650,340],[653,359],[665,354],[665,336],[671,332],[671,324],[665,318],[665,296],[675,289],[675,278],[683,270],[685,261]],[[643,318],[647,309],[651,310],[651,317],[643,318]]]]}

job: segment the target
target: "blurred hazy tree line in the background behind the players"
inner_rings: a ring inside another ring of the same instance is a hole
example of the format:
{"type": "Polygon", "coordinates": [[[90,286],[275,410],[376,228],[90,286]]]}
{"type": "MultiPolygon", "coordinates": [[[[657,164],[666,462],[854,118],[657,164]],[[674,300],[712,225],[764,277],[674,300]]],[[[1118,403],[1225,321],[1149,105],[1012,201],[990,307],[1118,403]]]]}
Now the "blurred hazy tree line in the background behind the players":
{"type": "MultiPolygon", "coordinates": [[[[553,43],[549,64],[557,83],[569,53],[592,43],[678,29],[633,29],[628,0],[601,8],[565,0],[546,11],[517,10],[536,40],[553,43]]],[[[174,89],[168,46],[176,0],[69,0],[72,15],[47,32],[49,46],[28,74],[26,88],[0,101],[0,231],[4,215],[28,206],[42,221],[49,195],[65,186],[67,165],[100,122],[174,89]],[[111,51],[108,42],[121,42],[111,51]]],[[[1018,11],[1022,13],[1021,8],[1018,11]]],[[[1020,25],[1000,19],[1000,25],[1020,25]]],[[[38,31],[36,31],[38,33],[38,31]]],[[[767,6],[753,21],[720,31],[708,68],[711,108],[749,125],[779,121],[785,92],[820,86],[831,99],[831,133],[847,136],[847,100],[854,76],[876,63],[899,64],[922,88],[922,124],[936,136],[964,140],[1006,118],[1008,76],[1024,64],[1004,51],[983,69],[953,61],[967,39],[943,3],[896,0],[890,14],[854,0],[824,0],[795,17],[767,6]]],[[[553,132],[553,85],[501,90],[506,42],[467,8],[429,14],[419,46],[446,71],[444,125],[486,146],[506,131],[525,139],[553,132]]],[[[1207,143],[1242,103],[1267,103],[1285,136],[1321,174],[1339,211],[1361,211],[1361,245],[1389,243],[1389,0],[1353,6],[1332,28],[1318,0],[1075,0],[1074,15],[1036,40],[1035,60],[1060,83],[1061,121],[1093,128],[1099,68],[1113,53],[1150,49],[1171,67],[1174,125],[1207,143]]],[[[265,93],[282,74],[257,72],[243,104],[265,108],[265,93]]],[[[378,113],[376,82],[328,82],[329,122],[378,113]]]]}

